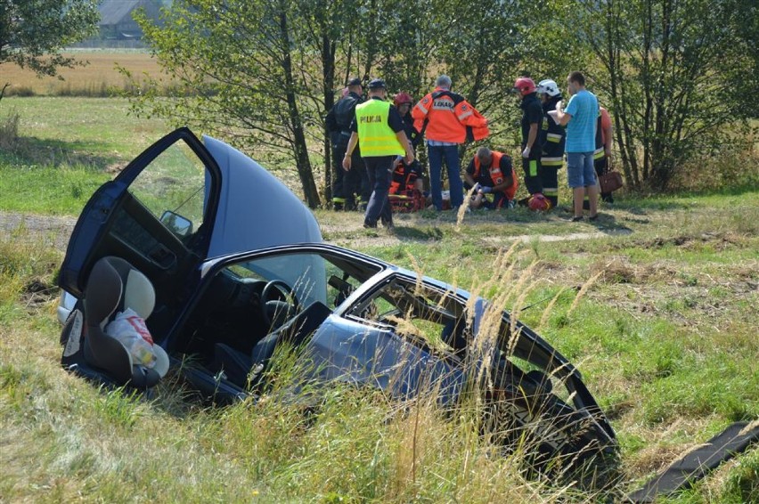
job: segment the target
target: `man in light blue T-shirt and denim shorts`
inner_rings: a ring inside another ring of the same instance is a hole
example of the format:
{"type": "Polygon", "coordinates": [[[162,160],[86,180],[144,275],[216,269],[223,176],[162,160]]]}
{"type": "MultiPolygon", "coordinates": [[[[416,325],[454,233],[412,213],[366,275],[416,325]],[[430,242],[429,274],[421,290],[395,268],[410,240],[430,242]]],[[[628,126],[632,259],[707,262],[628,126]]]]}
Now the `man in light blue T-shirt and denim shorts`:
{"type": "Polygon", "coordinates": [[[572,222],[583,220],[583,199],[587,190],[590,202],[588,219],[598,218],[598,185],[593,168],[593,151],[596,148],[596,123],[599,116],[599,101],[593,93],[585,89],[585,77],[580,72],[572,72],[567,77],[567,89],[571,98],[567,109],[562,103],[549,112],[561,126],[567,126],[567,180],[575,195],[575,215],[572,222]]]}

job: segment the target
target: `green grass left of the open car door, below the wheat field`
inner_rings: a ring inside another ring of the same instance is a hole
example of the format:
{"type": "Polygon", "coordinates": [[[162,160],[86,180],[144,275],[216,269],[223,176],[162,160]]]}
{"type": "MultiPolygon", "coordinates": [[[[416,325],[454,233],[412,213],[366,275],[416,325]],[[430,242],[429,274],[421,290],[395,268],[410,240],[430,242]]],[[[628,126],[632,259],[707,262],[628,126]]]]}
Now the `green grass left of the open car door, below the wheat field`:
{"type": "Polygon", "coordinates": [[[0,150],[0,210],[77,215],[100,184],[160,136],[158,119],[129,116],[117,99],[7,97],[19,138],[0,150]]]}

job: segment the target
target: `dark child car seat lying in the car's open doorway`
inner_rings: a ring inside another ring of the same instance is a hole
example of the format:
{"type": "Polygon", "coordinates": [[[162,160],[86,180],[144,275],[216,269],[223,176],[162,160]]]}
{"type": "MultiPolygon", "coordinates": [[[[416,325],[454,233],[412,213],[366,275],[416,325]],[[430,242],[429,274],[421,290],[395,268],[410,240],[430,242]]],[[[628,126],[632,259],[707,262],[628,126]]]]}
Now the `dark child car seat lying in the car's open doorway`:
{"type": "MultiPolygon", "coordinates": [[[[71,370],[84,367],[102,370],[105,378],[118,386],[155,386],[168,370],[168,355],[163,348],[153,345],[156,362],[148,368],[135,363],[126,346],[104,330],[115,313],[131,308],[147,319],[154,305],[155,290],[142,272],[120,257],[102,257],[90,272],[82,301],[63,328],[61,342],[65,348],[61,363],[71,370]]],[[[99,374],[78,371],[92,378],[99,374]]]]}

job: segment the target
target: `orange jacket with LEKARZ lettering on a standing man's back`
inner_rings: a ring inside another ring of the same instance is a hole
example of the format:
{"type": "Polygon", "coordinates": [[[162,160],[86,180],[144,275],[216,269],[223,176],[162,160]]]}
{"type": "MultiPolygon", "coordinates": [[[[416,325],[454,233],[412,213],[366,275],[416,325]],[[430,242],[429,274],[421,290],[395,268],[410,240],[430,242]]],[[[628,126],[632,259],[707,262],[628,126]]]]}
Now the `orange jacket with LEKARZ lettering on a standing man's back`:
{"type": "Polygon", "coordinates": [[[428,140],[463,143],[487,138],[487,119],[461,94],[435,88],[412,110],[413,126],[428,140]]]}

